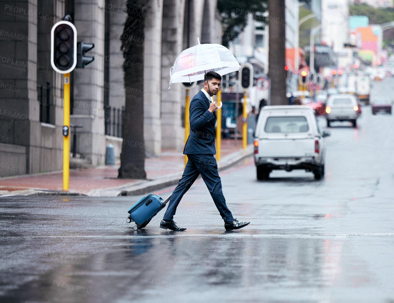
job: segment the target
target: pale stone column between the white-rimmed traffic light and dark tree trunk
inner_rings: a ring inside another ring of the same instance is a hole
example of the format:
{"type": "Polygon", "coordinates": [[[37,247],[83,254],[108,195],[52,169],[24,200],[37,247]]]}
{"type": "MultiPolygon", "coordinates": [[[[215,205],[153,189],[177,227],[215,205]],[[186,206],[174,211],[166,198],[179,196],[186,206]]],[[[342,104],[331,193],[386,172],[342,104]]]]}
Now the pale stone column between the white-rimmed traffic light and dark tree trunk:
{"type": "MultiPolygon", "coordinates": [[[[78,41],[94,43],[92,54],[104,58],[104,4],[102,0],[75,0],[74,25],[78,41]]],[[[83,124],[78,130],[78,151],[93,165],[105,160],[104,64],[95,60],[74,70],[74,114],[71,123],[83,124]]]]}

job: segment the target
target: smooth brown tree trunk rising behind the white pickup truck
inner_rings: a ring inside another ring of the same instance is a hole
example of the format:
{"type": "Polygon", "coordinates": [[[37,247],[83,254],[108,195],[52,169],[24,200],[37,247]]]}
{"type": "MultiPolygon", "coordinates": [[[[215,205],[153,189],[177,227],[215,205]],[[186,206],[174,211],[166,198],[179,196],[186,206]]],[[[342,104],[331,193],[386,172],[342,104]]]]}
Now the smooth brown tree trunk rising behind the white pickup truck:
{"type": "Polygon", "coordinates": [[[269,51],[268,77],[271,81],[271,105],[288,105],[286,100],[284,0],[268,0],[269,51]]]}

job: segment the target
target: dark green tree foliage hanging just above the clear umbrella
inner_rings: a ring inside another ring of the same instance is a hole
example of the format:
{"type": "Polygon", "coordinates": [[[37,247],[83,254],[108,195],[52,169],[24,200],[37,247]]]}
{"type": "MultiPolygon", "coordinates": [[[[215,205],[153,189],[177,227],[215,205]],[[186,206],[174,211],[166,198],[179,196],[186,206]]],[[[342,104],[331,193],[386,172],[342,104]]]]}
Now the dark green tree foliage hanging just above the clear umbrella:
{"type": "Polygon", "coordinates": [[[222,19],[222,44],[229,46],[229,41],[233,41],[242,33],[249,16],[263,23],[267,23],[267,18],[263,16],[267,10],[267,0],[217,0],[217,9],[222,19]]]}

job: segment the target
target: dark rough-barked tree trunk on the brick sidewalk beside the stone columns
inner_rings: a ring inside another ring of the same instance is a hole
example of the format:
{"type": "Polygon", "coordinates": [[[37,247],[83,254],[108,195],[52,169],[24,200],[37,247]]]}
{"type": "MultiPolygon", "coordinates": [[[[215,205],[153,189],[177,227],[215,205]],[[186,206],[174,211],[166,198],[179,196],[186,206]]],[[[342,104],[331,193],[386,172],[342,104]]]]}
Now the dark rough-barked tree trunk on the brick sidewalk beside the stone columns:
{"type": "Polygon", "coordinates": [[[128,0],[128,17],[121,37],[125,63],[125,114],[123,125],[123,145],[121,167],[118,178],[146,179],[144,141],[144,15],[136,11],[146,11],[142,1],[128,0]],[[142,42],[141,42],[142,41],[142,42]],[[136,68],[137,67],[137,68],[136,68]]]}

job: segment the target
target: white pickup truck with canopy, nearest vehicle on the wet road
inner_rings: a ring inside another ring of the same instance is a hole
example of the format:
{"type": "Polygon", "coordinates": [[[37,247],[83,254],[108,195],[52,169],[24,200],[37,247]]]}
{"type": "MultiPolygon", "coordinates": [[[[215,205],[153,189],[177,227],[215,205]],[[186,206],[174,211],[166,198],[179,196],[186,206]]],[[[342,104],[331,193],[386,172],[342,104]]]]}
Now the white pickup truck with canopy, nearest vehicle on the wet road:
{"type": "Polygon", "coordinates": [[[314,110],[305,105],[266,106],[255,130],[257,179],[268,179],[273,169],[305,169],[315,179],[324,176],[323,138],[314,110]]]}

